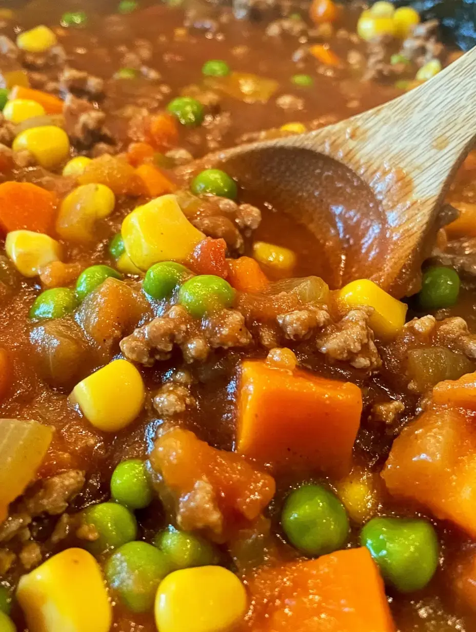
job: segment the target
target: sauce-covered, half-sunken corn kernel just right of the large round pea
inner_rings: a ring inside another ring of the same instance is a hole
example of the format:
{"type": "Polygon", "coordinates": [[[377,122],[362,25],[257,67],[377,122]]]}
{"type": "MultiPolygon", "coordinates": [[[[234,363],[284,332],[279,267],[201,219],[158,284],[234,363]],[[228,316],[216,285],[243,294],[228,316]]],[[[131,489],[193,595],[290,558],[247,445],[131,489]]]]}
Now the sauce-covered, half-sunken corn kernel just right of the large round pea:
{"type": "Polygon", "coordinates": [[[362,525],[374,516],[379,498],[377,478],[372,472],[353,470],[339,481],[336,491],[352,520],[362,525]]]}

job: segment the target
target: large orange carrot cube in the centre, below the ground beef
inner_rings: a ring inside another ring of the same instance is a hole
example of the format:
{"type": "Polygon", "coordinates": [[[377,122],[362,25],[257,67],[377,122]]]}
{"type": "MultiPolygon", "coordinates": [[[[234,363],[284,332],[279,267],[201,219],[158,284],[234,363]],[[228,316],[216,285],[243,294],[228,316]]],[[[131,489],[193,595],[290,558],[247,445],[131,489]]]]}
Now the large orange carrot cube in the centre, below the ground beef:
{"type": "Polygon", "coordinates": [[[362,393],[355,384],[246,360],[236,450],[275,468],[311,467],[345,476],[361,413],[362,393]]]}

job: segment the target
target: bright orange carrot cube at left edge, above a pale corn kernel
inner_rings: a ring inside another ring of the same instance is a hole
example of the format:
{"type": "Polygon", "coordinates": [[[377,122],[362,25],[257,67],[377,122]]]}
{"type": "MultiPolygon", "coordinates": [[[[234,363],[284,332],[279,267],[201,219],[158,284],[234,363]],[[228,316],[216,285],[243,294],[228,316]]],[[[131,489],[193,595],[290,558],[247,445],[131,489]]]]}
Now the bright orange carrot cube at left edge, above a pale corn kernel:
{"type": "Polygon", "coordinates": [[[29,182],[0,185],[0,232],[21,228],[50,234],[54,222],[56,195],[29,182]]]}

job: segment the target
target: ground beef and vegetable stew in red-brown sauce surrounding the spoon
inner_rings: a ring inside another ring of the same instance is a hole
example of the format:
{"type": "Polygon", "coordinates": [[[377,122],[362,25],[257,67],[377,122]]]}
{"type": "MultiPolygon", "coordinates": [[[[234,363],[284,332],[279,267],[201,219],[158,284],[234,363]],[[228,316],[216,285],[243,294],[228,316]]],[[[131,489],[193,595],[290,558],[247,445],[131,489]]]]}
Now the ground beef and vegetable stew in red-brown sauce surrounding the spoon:
{"type": "Polygon", "coordinates": [[[187,168],[461,51],[386,1],[0,29],[0,632],[475,629],[476,153],[402,299],[187,168]]]}

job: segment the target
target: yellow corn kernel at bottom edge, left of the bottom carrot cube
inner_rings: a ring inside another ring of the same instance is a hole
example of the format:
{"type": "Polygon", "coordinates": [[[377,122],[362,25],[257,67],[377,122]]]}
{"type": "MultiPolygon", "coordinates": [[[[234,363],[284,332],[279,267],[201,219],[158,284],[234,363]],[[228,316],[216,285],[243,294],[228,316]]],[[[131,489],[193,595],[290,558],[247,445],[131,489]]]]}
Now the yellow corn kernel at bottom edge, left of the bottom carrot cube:
{"type": "Polygon", "coordinates": [[[240,624],[247,607],[241,581],[222,566],[199,566],[170,573],[157,590],[160,632],[226,632],[240,624]]]}

